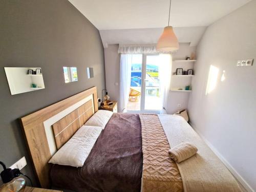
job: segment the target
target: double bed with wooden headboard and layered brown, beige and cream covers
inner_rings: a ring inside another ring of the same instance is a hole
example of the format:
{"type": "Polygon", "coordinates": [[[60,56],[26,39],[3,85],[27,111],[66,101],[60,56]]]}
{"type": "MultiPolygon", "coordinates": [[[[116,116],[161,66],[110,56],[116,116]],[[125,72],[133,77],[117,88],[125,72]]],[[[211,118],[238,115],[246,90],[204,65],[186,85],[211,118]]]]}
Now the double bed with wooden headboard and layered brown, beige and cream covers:
{"type": "Polygon", "coordinates": [[[48,163],[94,114],[97,89],[21,118],[41,187],[73,191],[241,191],[182,117],[114,113],[81,167],[48,163]],[[170,147],[189,140],[199,153],[183,163],[170,147]],[[211,162],[209,162],[211,161],[211,162]]]}

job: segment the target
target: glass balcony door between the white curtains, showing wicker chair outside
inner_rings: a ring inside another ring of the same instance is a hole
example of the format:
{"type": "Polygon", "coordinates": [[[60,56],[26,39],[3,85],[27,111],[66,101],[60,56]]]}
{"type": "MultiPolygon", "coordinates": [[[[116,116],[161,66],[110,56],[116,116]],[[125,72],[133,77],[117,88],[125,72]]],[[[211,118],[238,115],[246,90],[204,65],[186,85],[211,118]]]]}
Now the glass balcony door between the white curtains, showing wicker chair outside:
{"type": "Polygon", "coordinates": [[[162,108],[159,55],[133,54],[127,111],[159,111],[162,108]]]}

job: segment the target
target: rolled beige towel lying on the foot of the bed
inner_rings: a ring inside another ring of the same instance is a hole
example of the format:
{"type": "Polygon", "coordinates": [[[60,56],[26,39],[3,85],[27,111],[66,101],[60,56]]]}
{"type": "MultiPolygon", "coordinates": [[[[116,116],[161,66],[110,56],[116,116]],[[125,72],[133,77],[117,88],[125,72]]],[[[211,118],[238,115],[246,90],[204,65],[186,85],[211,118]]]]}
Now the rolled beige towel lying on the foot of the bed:
{"type": "Polygon", "coordinates": [[[195,155],[197,151],[198,149],[195,145],[189,142],[183,142],[171,148],[168,151],[168,154],[171,159],[173,159],[177,163],[180,163],[181,161],[184,161],[189,157],[195,155]]]}

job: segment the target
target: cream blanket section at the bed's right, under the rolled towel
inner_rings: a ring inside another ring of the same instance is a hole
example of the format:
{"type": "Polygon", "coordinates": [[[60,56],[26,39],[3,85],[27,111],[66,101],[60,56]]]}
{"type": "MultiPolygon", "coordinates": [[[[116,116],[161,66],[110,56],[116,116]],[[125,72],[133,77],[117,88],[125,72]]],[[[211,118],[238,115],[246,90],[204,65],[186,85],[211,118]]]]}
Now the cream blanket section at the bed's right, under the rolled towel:
{"type": "Polygon", "coordinates": [[[190,142],[198,148],[196,155],[177,163],[184,191],[242,191],[226,166],[182,117],[159,115],[158,118],[170,146],[190,142]]]}

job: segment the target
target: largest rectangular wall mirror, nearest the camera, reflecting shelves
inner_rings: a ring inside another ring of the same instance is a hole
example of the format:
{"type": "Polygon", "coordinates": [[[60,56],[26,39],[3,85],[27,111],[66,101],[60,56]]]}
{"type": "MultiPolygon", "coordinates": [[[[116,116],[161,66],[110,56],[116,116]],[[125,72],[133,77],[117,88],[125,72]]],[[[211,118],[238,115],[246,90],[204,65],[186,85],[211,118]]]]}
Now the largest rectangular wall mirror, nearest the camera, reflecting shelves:
{"type": "Polygon", "coordinates": [[[45,89],[41,68],[5,67],[12,95],[45,89]]]}

